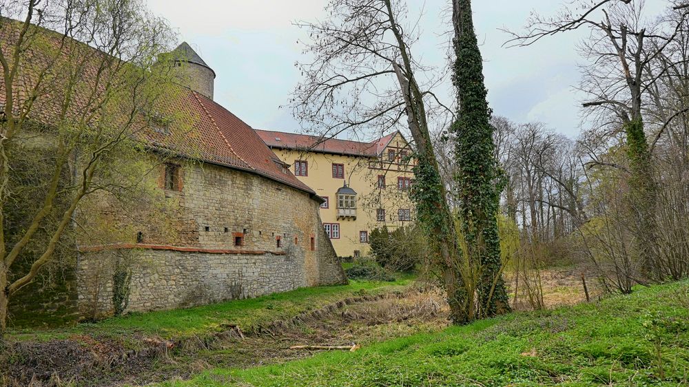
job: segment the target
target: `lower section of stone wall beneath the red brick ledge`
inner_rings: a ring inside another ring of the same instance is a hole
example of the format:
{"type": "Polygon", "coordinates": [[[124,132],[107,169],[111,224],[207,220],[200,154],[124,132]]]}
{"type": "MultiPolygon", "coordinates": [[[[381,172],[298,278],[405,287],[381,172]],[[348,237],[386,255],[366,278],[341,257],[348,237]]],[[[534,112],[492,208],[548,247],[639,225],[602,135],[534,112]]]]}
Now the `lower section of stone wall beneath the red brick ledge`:
{"type": "Polygon", "coordinates": [[[256,297],[306,286],[304,262],[294,255],[187,253],[138,250],[124,258],[129,278],[116,289],[113,252],[81,260],[79,302],[84,318],[114,313],[113,293],[124,290],[123,312],[156,311],[256,297]],[[89,278],[91,280],[89,280],[89,278]]]}

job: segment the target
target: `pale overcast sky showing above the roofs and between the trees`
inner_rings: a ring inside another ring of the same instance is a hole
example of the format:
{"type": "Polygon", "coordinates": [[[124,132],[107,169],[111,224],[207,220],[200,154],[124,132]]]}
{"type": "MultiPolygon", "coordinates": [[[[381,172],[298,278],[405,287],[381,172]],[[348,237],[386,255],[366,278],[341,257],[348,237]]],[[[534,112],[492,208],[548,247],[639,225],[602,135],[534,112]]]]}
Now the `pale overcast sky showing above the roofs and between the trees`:
{"type": "MultiPolygon", "coordinates": [[[[257,129],[299,132],[287,109],[289,92],[300,81],[294,63],[304,32],[293,21],[325,18],[325,0],[148,0],[150,9],[178,30],[216,74],[215,100],[257,129]]],[[[449,0],[409,0],[410,14],[422,13],[424,37],[413,54],[430,65],[445,65],[442,36],[449,29],[449,0]],[[423,12],[421,12],[423,10],[423,12]]],[[[579,83],[575,50],[579,32],[562,34],[530,48],[503,48],[508,36],[532,11],[553,14],[562,0],[473,1],[482,43],[489,103],[513,121],[542,121],[570,137],[579,133],[579,83]]],[[[664,0],[648,0],[659,9],[664,0]]]]}

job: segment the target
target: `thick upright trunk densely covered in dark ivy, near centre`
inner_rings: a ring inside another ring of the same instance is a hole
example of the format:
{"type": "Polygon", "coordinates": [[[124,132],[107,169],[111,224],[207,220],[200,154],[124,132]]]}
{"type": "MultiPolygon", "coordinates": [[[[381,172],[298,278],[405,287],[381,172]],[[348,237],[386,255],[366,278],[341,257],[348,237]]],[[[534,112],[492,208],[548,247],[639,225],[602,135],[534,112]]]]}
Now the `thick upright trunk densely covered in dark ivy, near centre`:
{"type": "Polygon", "coordinates": [[[473,28],[470,0],[453,0],[454,48],[457,56],[453,83],[459,114],[455,134],[457,196],[466,255],[480,264],[477,284],[479,313],[491,317],[511,311],[502,278],[497,213],[500,189],[495,160],[491,110],[484,85],[483,60],[473,28]]]}

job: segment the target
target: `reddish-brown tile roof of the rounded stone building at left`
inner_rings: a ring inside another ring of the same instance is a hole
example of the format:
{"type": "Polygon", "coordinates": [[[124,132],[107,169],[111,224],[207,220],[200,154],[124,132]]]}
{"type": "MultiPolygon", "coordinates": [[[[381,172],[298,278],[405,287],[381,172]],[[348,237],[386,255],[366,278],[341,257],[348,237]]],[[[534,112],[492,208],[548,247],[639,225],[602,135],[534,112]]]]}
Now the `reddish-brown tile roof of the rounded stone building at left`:
{"type": "MultiPolygon", "coordinates": [[[[14,32],[12,28],[0,30],[0,38],[8,37],[4,36],[4,34],[12,32],[14,32]]],[[[46,32],[48,33],[46,36],[54,34],[50,31],[46,32]]],[[[55,36],[58,35],[55,34],[55,36]]],[[[94,58],[105,55],[94,48],[90,48],[88,45],[83,45],[76,41],[70,41],[70,43],[73,43],[68,45],[70,50],[89,50],[90,55],[94,58]]],[[[8,45],[1,46],[3,51],[8,49],[8,45]]],[[[38,52],[34,53],[34,56],[32,56],[32,59],[43,61],[45,54],[38,52]]],[[[67,54],[64,56],[65,59],[68,59],[67,54]]],[[[97,60],[94,63],[96,63],[94,65],[96,66],[98,64],[97,60]]],[[[90,90],[90,87],[93,87],[94,81],[92,80],[94,78],[92,77],[91,67],[94,66],[84,66],[86,70],[82,77],[82,85],[85,85],[83,87],[85,90],[90,90]]],[[[25,94],[28,94],[26,90],[32,90],[35,87],[36,77],[30,70],[25,70],[25,68],[30,67],[28,65],[23,67],[25,74],[21,74],[20,77],[23,83],[19,82],[19,87],[14,88],[14,96],[19,101],[19,103],[14,105],[15,109],[21,107],[21,102],[26,98],[25,94]]],[[[50,94],[39,96],[36,103],[34,103],[34,108],[30,113],[31,118],[34,120],[50,123],[57,116],[59,112],[58,107],[61,106],[60,103],[64,100],[64,96],[55,95],[60,92],[60,85],[53,86],[50,89],[50,94]]],[[[188,158],[248,171],[252,174],[258,174],[300,189],[301,191],[306,191],[313,195],[316,194],[315,191],[303,182],[300,182],[289,171],[289,168],[285,167],[284,163],[258,137],[254,129],[227,109],[187,88],[181,88],[181,90],[173,94],[169,96],[167,101],[169,105],[165,109],[171,110],[169,112],[170,115],[182,116],[183,118],[178,118],[178,120],[173,120],[170,123],[168,128],[169,134],[159,133],[147,128],[143,131],[133,132],[132,134],[136,138],[140,138],[157,149],[166,149],[174,154],[188,158]]],[[[87,95],[84,94],[84,96],[87,95]]],[[[0,81],[0,107],[4,107],[6,103],[4,96],[4,83],[0,81]]],[[[85,114],[84,112],[88,111],[85,108],[88,105],[85,102],[87,99],[82,98],[81,94],[77,93],[74,97],[75,102],[70,107],[74,111],[72,114],[77,116],[85,114]]],[[[147,121],[143,114],[136,119],[139,123],[147,121]]]]}

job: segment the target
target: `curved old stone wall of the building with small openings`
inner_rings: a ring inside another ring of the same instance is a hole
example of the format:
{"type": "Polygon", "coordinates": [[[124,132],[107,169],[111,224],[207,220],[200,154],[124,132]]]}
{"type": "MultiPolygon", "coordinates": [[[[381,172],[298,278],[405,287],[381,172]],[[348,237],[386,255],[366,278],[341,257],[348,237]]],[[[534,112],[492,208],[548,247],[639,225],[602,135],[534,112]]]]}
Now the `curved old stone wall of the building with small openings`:
{"type": "Polygon", "coordinates": [[[149,213],[128,225],[138,236],[80,255],[82,318],[347,282],[309,193],[215,165],[180,176],[180,189],[165,190],[174,235],[147,227],[149,213]]]}

